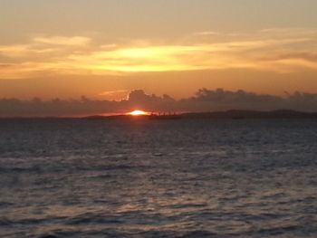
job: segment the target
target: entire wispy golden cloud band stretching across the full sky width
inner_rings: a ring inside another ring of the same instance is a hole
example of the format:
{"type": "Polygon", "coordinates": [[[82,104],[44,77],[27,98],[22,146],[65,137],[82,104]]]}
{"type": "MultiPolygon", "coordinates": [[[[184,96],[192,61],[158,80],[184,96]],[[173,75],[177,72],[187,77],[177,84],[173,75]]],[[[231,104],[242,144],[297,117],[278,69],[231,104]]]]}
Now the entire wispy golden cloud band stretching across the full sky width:
{"type": "Polygon", "coordinates": [[[127,74],[246,68],[265,71],[317,70],[315,29],[265,29],[249,34],[202,32],[184,43],[151,41],[97,44],[84,36],[41,36],[29,43],[0,45],[1,77],[34,73],[127,74]],[[199,37],[215,35],[216,40],[199,37]],[[85,47],[87,46],[87,47],[85,47]],[[3,57],[3,58],[4,58],[3,57]]]}

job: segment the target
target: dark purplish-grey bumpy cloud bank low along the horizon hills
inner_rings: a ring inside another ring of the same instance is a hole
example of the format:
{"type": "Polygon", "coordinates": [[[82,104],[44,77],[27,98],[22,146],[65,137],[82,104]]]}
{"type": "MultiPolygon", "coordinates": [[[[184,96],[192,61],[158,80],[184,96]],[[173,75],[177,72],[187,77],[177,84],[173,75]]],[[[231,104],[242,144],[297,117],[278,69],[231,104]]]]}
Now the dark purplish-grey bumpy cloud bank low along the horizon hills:
{"type": "Polygon", "coordinates": [[[0,117],[87,116],[124,113],[133,109],[148,111],[215,111],[227,109],[296,109],[317,111],[317,94],[294,92],[285,97],[256,94],[245,90],[201,89],[190,98],[175,100],[168,95],[149,95],[133,90],[127,100],[17,100],[0,99],[0,117]]]}

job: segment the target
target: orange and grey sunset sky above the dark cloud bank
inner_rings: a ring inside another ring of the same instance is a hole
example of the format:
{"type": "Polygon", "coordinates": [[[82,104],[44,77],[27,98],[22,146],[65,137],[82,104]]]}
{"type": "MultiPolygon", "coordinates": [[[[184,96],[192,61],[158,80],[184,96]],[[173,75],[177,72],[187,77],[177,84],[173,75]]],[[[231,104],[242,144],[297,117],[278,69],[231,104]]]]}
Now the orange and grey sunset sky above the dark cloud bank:
{"type": "Polygon", "coordinates": [[[317,92],[315,0],[0,0],[0,99],[317,92]]]}

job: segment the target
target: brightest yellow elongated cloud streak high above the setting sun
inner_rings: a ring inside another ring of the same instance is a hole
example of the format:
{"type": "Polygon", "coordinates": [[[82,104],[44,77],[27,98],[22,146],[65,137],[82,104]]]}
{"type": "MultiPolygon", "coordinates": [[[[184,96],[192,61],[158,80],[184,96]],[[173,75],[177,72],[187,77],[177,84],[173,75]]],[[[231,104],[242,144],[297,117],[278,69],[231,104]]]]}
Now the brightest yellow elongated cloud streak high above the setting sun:
{"type": "Polygon", "coordinates": [[[233,68],[269,68],[256,62],[256,54],[271,47],[304,43],[308,39],[256,40],[192,45],[147,45],[120,47],[90,54],[75,53],[65,63],[78,70],[99,74],[109,71],[197,71],[233,68]],[[252,52],[253,51],[253,52],[252,52]],[[256,52],[258,51],[258,52],[256,52]]]}

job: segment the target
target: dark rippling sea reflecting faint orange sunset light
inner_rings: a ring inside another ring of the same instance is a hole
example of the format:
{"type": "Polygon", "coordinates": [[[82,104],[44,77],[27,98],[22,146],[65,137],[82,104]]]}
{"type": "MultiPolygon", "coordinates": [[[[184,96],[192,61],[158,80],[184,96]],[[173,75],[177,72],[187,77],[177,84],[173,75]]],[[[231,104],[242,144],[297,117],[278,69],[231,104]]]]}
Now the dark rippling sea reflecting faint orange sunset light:
{"type": "Polygon", "coordinates": [[[0,120],[0,237],[317,237],[317,121],[0,120]]]}

